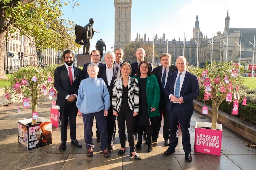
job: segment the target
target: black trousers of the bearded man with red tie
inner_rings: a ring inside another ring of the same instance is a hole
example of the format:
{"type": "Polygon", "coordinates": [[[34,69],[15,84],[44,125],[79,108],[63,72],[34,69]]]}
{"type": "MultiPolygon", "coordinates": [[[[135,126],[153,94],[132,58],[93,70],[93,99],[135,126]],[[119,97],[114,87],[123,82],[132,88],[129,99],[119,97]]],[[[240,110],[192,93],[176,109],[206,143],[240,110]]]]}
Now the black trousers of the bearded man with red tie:
{"type": "Polygon", "coordinates": [[[66,101],[64,106],[60,106],[60,134],[61,141],[67,141],[67,124],[69,118],[70,138],[76,139],[76,115],[77,115],[76,100],[73,102],[66,101]]]}

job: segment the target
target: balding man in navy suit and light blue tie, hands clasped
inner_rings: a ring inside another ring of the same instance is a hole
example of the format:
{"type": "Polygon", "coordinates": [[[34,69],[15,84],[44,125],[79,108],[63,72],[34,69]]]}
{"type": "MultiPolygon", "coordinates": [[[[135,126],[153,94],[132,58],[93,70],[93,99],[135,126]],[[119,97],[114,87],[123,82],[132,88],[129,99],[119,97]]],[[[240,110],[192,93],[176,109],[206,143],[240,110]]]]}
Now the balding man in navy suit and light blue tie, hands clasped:
{"type": "Polygon", "coordinates": [[[180,56],[176,60],[178,71],[168,76],[164,93],[169,101],[166,103],[166,109],[169,113],[170,122],[170,145],[164,152],[164,155],[170,155],[175,152],[178,145],[178,126],[182,133],[182,145],[185,152],[185,160],[192,161],[190,144],[190,119],[194,111],[193,99],[199,95],[199,85],[197,77],[186,70],[186,58],[180,56]]]}

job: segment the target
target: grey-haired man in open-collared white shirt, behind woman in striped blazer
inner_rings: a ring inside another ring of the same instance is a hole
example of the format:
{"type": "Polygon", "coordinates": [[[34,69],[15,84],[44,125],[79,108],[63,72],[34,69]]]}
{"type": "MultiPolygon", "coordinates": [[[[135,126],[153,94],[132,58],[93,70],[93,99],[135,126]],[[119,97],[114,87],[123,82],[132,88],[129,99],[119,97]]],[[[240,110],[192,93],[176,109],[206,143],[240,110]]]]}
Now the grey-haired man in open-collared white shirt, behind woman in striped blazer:
{"type": "Polygon", "coordinates": [[[108,149],[113,150],[115,148],[113,144],[113,134],[115,131],[115,122],[116,122],[116,116],[113,115],[112,111],[112,89],[113,89],[113,83],[114,80],[120,77],[120,68],[116,65],[114,65],[114,59],[115,59],[115,54],[112,51],[108,51],[105,54],[105,61],[106,64],[101,65],[99,67],[99,73],[98,77],[102,78],[107,87],[108,87],[108,92],[110,95],[110,100],[111,100],[111,106],[108,109],[108,116],[107,116],[107,122],[108,122],[108,149]]]}

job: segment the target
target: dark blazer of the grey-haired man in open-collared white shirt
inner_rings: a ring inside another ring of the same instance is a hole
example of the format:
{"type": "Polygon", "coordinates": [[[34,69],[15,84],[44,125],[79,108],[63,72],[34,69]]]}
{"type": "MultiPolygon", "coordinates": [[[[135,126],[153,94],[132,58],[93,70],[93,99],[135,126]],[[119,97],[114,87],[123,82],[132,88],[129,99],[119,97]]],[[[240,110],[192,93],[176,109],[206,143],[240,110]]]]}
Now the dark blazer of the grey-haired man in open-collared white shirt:
{"type": "Polygon", "coordinates": [[[108,80],[107,80],[107,75],[106,75],[106,64],[103,64],[99,67],[100,70],[99,70],[99,73],[98,73],[98,76],[97,76],[99,78],[102,78],[105,81],[105,83],[108,87],[108,92],[110,94],[110,99],[111,100],[112,100],[112,89],[113,89],[114,80],[120,77],[120,72],[121,72],[120,68],[118,66],[116,66],[115,64],[113,64],[113,67],[114,67],[113,77],[112,77],[110,85],[108,85],[108,80]]]}

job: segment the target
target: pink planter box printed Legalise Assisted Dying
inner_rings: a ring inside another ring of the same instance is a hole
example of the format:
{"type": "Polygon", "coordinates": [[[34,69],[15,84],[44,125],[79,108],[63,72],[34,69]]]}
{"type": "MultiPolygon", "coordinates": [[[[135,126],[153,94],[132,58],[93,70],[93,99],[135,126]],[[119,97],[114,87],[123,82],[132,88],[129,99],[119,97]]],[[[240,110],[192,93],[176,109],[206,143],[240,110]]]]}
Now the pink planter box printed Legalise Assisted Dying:
{"type": "Polygon", "coordinates": [[[196,122],[194,152],[221,155],[222,125],[216,125],[216,130],[211,128],[212,123],[196,122]]]}

